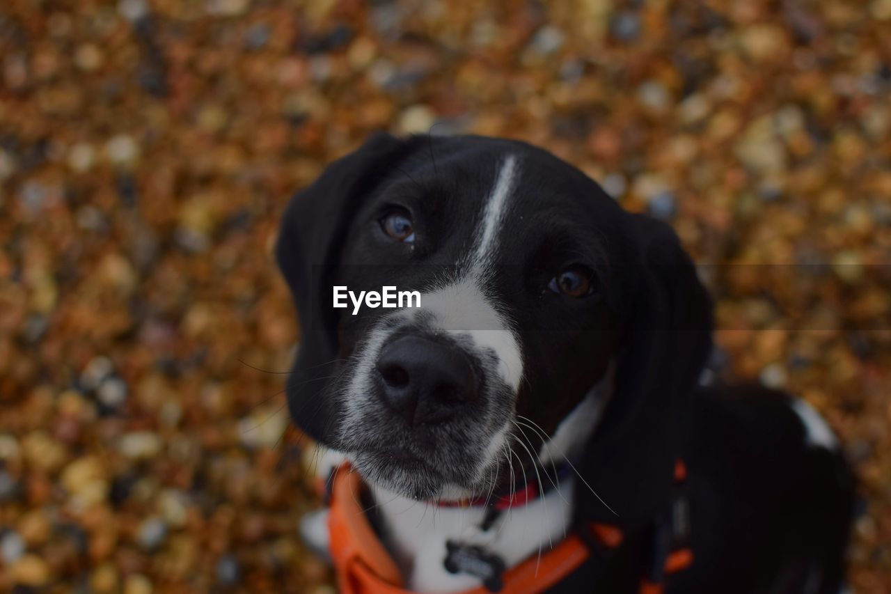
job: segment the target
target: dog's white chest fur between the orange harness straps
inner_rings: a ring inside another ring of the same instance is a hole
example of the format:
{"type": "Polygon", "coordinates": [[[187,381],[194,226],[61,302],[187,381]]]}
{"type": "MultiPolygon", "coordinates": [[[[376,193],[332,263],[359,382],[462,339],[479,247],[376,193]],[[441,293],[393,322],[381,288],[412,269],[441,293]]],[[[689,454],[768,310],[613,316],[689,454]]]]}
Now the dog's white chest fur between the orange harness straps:
{"type": "Polygon", "coordinates": [[[382,537],[405,573],[410,590],[454,592],[479,585],[469,573],[449,573],[444,562],[447,542],[481,547],[508,567],[543,554],[566,537],[572,514],[571,480],[521,507],[505,510],[483,531],[482,507],[436,507],[374,489],[382,537]]]}

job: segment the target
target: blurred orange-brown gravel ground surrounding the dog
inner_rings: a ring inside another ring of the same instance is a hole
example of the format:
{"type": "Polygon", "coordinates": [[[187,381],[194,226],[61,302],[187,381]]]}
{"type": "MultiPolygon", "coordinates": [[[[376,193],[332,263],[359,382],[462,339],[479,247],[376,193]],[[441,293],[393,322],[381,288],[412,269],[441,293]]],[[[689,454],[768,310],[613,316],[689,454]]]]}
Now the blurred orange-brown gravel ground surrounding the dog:
{"type": "Polygon", "coordinates": [[[436,124],[674,224],[724,373],[840,434],[854,588],[891,591],[889,91],[889,0],[3,0],[0,590],[333,591],[270,246],[325,163],[436,124]]]}

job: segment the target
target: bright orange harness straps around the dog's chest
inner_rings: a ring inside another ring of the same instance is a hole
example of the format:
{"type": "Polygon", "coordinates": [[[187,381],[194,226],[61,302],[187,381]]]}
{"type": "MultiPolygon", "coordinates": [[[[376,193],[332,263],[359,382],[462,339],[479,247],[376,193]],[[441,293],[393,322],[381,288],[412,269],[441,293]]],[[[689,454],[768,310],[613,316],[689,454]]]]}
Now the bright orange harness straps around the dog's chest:
{"type": "MultiPolygon", "coordinates": [[[[363,484],[349,466],[341,466],[332,478],[331,510],[328,527],[331,533],[331,557],[342,594],[411,594],[405,590],[396,562],[380,542],[360,503],[363,484]]],[[[593,524],[593,535],[605,547],[616,548],[623,540],[615,526],[593,524]]],[[[541,557],[530,557],[511,567],[503,575],[503,594],[536,594],[548,590],[573,573],[590,555],[584,540],[570,534],[541,557]]],[[[680,571],[692,562],[689,549],[675,551],[666,558],[666,573],[680,571]]],[[[642,582],[642,594],[658,594],[657,584],[642,582]],[[656,590],[652,588],[655,587],[656,590]]],[[[490,594],[480,586],[462,594],[490,594]]]]}

